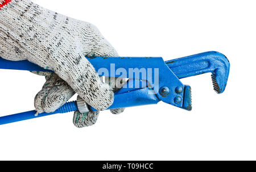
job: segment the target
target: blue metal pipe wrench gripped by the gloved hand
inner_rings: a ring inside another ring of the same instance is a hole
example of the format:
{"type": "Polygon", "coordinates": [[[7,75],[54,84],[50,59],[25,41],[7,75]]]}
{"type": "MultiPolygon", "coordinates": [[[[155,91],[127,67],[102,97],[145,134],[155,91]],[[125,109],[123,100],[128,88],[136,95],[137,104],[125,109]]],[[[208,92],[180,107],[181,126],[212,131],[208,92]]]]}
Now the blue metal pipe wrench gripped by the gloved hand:
{"type": "MultiPolygon", "coordinates": [[[[229,77],[230,64],[224,54],[205,52],[193,56],[164,61],[162,57],[86,57],[100,76],[129,78],[126,85],[114,95],[114,103],[108,110],[115,108],[157,104],[160,101],[173,106],[192,110],[191,87],[183,85],[181,78],[212,73],[214,90],[223,93],[229,77]],[[112,72],[112,70],[114,72],[112,72]],[[105,69],[108,72],[100,72],[105,69]],[[122,69],[122,70],[120,70],[122,69]],[[130,73],[133,69],[133,72],[130,73]],[[146,70],[147,77],[142,73],[146,70]],[[118,72],[119,70],[119,72],[118,72]],[[137,70],[139,74],[134,73],[137,70]],[[122,72],[121,72],[122,71],[122,72]],[[126,71],[126,72],[123,72],[126,71]],[[150,71],[150,72],[148,72],[150,71]],[[156,84],[156,82],[158,84],[156,84]],[[137,86],[135,86],[137,83],[137,86]]],[[[0,57],[0,69],[53,72],[43,69],[27,60],[9,61],[0,57]]],[[[89,107],[92,111],[97,111],[89,107]]],[[[77,102],[68,102],[52,113],[35,115],[36,111],[0,117],[0,125],[38,118],[47,115],[77,111],[77,102]]]]}

